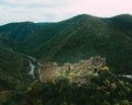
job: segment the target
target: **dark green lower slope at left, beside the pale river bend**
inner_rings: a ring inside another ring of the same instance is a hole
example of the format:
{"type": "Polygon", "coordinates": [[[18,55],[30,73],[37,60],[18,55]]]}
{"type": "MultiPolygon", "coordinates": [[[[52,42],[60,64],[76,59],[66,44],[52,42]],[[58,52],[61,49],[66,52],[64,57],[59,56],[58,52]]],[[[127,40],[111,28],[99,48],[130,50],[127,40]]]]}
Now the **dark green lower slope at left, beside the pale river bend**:
{"type": "Polygon", "coordinates": [[[28,86],[33,80],[29,74],[30,59],[11,49],[0,47],[0,90],[28,86]]]}

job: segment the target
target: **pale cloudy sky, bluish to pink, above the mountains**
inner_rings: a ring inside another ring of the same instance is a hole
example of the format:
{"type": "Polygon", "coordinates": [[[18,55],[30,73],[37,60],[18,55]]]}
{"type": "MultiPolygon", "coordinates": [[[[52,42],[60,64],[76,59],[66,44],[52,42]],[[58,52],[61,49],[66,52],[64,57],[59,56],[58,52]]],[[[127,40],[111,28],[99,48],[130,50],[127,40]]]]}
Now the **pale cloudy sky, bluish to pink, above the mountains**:
{"type": "Polygon", "coordinates": [[[132,0],[0,0],[0,25],[58,22],[84,13],[101,18],[132,14],[132,0]]]}

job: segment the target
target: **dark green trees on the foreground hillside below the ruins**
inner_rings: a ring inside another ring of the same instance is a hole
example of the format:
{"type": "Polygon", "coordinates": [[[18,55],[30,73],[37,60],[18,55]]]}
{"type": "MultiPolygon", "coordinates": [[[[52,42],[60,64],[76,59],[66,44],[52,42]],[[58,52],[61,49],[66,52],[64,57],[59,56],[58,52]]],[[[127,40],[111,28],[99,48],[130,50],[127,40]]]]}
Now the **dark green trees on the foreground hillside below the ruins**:
{"type": "Polygon", "coordinates": [[[36,81],[9,100],[25,105],[131,105],[131,88],[111,71],[100,70],[98,77],[91,77],[89,85],[70,84],[67,78],[59,77],[53,83],[36,81]]]}

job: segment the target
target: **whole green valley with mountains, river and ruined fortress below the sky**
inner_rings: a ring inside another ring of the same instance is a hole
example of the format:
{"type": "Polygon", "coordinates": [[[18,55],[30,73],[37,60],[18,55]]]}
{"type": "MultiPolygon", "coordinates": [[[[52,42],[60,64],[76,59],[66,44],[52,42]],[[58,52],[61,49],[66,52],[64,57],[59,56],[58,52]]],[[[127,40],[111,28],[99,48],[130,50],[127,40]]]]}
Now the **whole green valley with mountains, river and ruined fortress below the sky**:
{"type": "Polygon", "coordinates": [[[0,105],[131,105],[131,97],[132,15],[0,26],[0,105]]]}

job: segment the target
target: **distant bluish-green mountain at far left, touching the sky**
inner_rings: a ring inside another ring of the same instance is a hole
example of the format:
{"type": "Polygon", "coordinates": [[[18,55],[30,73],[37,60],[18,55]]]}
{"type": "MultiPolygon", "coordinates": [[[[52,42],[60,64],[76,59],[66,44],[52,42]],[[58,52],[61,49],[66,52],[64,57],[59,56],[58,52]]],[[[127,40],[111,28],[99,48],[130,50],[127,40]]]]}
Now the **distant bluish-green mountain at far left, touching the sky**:
{"type": "MultiPolygon", "coordinates": [[[[50,24],[50,23],[48,23],[50,24]]],[[[47,23],[20,22],[0,26],[0,45],[14,47],[26,37],[38,33],[47,23]]]]}

